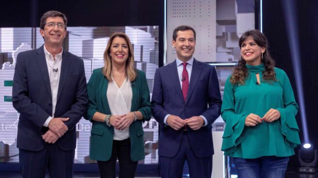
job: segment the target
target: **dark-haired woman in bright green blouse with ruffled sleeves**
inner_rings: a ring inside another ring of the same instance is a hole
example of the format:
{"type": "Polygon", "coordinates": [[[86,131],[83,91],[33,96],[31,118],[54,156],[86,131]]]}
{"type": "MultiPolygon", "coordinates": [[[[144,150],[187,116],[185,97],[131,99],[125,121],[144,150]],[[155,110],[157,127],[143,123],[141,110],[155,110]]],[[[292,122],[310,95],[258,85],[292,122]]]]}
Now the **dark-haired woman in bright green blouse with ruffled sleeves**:
{"type": "Polygon", "coordinates": [[[225,83],[222,150],[239,178],[284,178],[300,145],[298,105],[286,73],[274,67],[267,39],[249,30],[239,39],[238,66],[225,83]]]}

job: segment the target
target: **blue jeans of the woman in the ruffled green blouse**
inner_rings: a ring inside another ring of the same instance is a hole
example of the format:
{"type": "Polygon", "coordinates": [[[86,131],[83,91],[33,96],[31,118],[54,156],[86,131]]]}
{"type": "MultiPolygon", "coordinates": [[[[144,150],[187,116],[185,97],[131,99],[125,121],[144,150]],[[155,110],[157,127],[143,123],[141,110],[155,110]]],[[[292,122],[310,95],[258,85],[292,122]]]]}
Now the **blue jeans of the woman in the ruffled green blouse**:
{"type": "Polygon", "coordinates": [[[239,178],[285,178],[289,157],[233,158],[239,178]]]}

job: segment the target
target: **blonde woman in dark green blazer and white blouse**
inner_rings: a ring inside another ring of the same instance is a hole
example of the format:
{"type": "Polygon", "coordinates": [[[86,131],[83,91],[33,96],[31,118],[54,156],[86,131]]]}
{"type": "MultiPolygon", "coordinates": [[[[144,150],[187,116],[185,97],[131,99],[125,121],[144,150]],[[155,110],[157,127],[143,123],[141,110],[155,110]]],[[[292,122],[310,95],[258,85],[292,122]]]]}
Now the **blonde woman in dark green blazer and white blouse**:
{"type": "Polygon", "coordinates": [[[104,52],[103,68],[87,84],[89,106],[85,119],[93,123],[90,158],[97,160],[101,178],[133,178],[144,159],[142,122],[151,118],[145,74],[133,68],[134,57],[125,33],[114,33],[104,52]]]}

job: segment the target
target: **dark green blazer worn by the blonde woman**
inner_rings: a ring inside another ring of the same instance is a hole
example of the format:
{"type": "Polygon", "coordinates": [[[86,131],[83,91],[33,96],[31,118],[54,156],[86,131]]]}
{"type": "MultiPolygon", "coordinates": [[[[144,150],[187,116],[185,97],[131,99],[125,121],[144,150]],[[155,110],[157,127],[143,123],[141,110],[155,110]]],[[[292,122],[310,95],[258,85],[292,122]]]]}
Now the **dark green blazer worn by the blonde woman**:
{"type": "MultiPolygon", "coordinates": [[[[140,111],[143,114],[143,120],[136,120],[129,126],[130,157],[134,162],[144,159],[142,121],[150,120],[152,112],[146,76],[143,71],[136,71],[137,77],[135,81],[131,82],[131,111],[140,111]]],[[[95,112],[111,114],[106,96],[107,87],[108,80],[102,74],[102,68],[95,69],[87,83],[89,106],[84,118],[93,123],[90,140],[90,158],[98,161],[108,161],[111,158],[114,136],[114,128],[112,126],[109,127],[105,122],[93,120],[95,112]]]]}

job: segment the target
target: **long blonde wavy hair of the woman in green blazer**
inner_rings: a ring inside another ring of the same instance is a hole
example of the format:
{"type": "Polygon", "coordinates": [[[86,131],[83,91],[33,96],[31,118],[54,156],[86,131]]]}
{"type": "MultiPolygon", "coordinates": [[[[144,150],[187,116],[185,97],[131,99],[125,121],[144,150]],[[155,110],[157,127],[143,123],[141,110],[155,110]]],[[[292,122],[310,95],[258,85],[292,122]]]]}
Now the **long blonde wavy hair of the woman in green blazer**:
{"type": "Polygon", "coordinates": [[[122,32],[115,32],[114,34],[111,35],[110,39],[108,40],[107,47],[104,52],[104,68],[103,68],[103,74],[105,77],[108,79],[108,81],[112,81],[111,79],[111,44],[112,41],[116,38],[123,38],[125,39],[127,45],[128,45],[128,59],[126,60],[126,77],[129,78],[129,81],[132,82],[136,79],[137,77],[137,72],[136,69],[134,68],[134,54],[132,51],[132,45],[130,43],[129,37],[122,32]]]}

